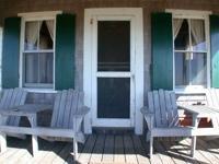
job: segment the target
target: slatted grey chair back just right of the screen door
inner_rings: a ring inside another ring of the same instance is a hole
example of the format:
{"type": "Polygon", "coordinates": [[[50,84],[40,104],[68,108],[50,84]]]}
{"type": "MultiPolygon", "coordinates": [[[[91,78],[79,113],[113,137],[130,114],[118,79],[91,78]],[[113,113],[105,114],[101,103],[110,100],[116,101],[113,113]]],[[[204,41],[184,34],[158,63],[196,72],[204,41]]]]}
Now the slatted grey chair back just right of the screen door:
{"type": "Polygon", "coordinates": [[[173,127],[178,121],[175,93],[172,91],[148,92],[148,107],[154,114],[154,127],[173,127]]]}

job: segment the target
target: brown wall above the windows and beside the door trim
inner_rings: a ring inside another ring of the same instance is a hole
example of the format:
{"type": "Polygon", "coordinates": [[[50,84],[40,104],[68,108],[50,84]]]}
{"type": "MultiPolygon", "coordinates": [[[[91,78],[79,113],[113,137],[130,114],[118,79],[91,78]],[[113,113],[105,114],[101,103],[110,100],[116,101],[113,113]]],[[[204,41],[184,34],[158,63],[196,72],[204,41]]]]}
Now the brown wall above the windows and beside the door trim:
{"type": "Polygon", "coordinates": [[[76,87],[83,87],[83,16],[85,8],[143,8],[145,92],[150,89],[151,62],[150,13],[165,9],[210,10],[219,13],[219,0],[0,0],[0,24],[3,19],[22,12],[54,11],[77,14],[76,87]]]}

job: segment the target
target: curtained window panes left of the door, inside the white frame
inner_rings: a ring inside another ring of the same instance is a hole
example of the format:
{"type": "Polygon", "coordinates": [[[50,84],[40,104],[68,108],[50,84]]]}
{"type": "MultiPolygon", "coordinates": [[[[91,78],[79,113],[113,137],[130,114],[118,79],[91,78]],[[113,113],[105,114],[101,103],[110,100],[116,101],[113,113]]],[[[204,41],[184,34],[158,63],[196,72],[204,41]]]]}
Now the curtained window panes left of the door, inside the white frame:
{"type": "Polygon", "coordinates": [[[24,87],[53,87],[54,20],[24,22],[23,75],[24,87]]]}

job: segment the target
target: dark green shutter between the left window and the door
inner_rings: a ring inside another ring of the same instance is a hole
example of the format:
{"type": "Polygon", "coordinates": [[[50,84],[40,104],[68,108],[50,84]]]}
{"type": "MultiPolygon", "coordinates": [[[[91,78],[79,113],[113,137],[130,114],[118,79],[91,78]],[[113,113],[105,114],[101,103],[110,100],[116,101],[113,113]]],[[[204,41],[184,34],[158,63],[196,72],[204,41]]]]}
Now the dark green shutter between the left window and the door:
{"type": "Polygon", "coordinates": [[[56,17],[55,89],[74,89],[76,16],[56,17]]]}

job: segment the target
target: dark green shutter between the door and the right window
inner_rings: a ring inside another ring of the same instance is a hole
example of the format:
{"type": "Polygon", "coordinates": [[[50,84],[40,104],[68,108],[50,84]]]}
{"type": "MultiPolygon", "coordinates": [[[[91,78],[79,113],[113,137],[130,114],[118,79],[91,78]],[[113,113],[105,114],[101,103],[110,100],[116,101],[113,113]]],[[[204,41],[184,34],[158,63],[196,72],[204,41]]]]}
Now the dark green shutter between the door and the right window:
{"type": "Polygon", "coordinates": [[[151,87],[173,90],[172,14],[152,13],[151,31],[151,87]]]}

